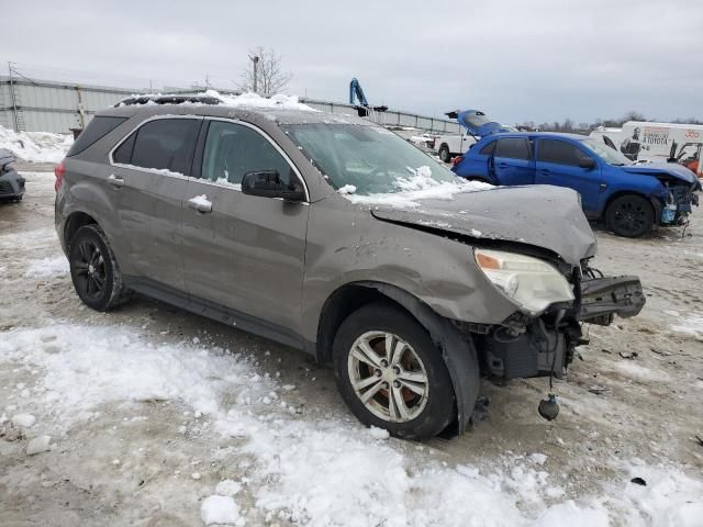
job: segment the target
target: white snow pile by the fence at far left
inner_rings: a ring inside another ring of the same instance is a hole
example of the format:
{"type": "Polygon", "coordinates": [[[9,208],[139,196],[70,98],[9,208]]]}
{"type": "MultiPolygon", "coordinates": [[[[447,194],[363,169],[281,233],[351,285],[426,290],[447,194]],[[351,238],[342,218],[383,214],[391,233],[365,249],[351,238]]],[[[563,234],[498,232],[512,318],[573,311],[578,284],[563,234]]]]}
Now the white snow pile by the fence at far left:
{"type": "Polygon", "coordinates": [[[72,136],[67,134],[14,132],[0,126],[0,149],[10,150],[24,161],[59,162],[72,143],[72,136]]]}

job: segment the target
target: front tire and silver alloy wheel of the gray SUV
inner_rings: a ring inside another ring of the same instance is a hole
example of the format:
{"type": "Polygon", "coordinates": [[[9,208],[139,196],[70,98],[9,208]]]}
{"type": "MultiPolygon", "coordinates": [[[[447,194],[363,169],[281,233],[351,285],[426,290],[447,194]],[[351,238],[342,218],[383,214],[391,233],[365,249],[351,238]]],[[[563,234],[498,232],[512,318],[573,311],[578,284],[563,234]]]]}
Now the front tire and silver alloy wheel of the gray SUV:
{"type": "Polygon", "coordinates": [[[368,426],[405,439],[428,439],[456,416],[449,372],[425,328],[388,303],[349,315],[335,336],[337,388],[368,426]]]}

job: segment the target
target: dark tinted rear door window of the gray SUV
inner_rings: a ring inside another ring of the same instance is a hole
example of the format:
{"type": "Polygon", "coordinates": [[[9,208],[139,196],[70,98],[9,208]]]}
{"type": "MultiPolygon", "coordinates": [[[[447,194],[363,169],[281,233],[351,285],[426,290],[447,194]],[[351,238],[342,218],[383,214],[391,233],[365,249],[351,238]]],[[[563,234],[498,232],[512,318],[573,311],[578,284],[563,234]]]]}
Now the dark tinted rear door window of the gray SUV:
{"type": "Polygon", "coordinates": [[[157,119],[135,131],[114,152],[115,162],[190,175],[200,119],[157,119]]]}

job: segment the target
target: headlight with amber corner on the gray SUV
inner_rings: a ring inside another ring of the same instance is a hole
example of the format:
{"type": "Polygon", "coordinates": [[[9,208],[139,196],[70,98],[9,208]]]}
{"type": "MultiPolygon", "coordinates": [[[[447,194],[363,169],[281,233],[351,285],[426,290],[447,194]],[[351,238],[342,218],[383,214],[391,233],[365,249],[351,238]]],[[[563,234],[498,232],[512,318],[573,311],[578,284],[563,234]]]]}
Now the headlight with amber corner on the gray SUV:
{"type": "Polygon", "coordinates": [[[573,300],[563,274],[538,258],[488,249],[475,249],[473,256],[493,285],[533,315],[555,302],[573,300]]]}

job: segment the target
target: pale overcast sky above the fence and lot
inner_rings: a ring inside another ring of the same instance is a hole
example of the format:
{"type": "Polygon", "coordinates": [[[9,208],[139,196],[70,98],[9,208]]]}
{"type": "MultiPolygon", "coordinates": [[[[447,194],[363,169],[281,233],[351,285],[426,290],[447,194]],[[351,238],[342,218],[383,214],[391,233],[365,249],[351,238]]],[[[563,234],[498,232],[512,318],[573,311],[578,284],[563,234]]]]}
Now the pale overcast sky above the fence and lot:
{"type": "MultiPolygon", "coordinates": [[[[703,1],[0,0],[0,59],[41,78],[233,88],[272,47],[288,93],[504,123],[703,117],[703,1]]],[[[1,65],[0,65],[1,66],[1,65]]],[[[4,69],[0,67],[0,72],[4,69]]]]}

